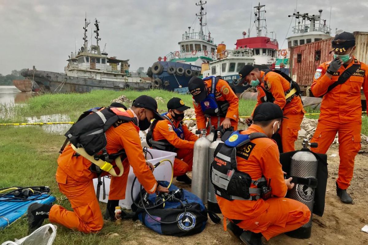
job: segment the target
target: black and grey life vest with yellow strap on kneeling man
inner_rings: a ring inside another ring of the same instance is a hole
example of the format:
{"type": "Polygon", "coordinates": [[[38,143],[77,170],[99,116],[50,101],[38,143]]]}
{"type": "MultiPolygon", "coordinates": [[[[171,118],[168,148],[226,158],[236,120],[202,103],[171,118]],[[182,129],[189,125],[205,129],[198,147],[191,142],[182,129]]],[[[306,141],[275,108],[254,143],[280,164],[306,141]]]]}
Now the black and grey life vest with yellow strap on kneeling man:
{"type": "Polygon", "coordinates": [[[107,140],[105,133],[111,126],[118,126],[126,122],[138,124],[137,119],[131,118],[124,108],[96,107],[85,111],[65,134],[67,139],[60,149],[60,154],[68,141],[70,141],[71,147],[78,155],[88,159],[100,169],[109,172],[112,176],[121,176],[124,172],[121,155],[125,154],[125,150],[121,149],[117,153],[108,154],[106,151],[107,140]],[[114,159],[120,170],[119,174],[115,172],[111,164],[114,159]]]}

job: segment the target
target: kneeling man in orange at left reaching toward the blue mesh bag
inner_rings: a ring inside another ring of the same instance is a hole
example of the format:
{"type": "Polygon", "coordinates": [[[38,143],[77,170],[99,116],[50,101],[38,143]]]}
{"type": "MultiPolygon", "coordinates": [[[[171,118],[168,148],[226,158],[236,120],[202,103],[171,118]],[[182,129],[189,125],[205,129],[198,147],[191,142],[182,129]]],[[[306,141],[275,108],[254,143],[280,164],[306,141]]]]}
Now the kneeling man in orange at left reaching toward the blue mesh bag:
{"type": "MultiPolygon", "coordinates": [[[[125,111],[126,116],[133,118],[129,122],[116,122],[106,131],[108,154],[125,149],[127,158],[123,161],[124,173],[120,177],[111,177],[109,201],[107,202],[106,217],[114,217],[115,207],[120,199],[125,199],[129,165],[139,183],[148,193],[169,192],[158,185],[151,169],[147,166],[139,137],[139,130],[146,130],[152,119],[162,120],[157,112],[157,102],[149,96],[139,96],[133,101],[132,107],[125,111]]],[[[67,145],[57,159],[58,168],[56,181],[60,192],[66,195],[73,211],[60,205],[46,205],[34,203],[28,207],[28,224],[30,231],[42,225],[44,219],[51,223],[58,223],[67,228],[83,233],[96,233],[103,227],[103,217],[98,199],[93,187],[93,179],[97,174],[91,172],[91,162],[75,154],[71,144],[67,145]]],[[[107,172],[104,172],[108,174],[107,172]]]]}

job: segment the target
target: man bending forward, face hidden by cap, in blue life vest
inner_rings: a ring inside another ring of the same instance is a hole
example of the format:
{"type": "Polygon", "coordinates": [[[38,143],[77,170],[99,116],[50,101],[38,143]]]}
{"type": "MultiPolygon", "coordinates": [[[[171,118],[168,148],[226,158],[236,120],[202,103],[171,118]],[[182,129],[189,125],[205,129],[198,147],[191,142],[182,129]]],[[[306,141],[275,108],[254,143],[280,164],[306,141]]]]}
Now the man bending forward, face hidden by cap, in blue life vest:
{"type": "Polygon", "coordinates": [[[237,130],[239,99],[225,80],[214,76],[204,80],[192,77],[188,90],[193,96],[198,130],[207,129],[209,133],[211,126],[215,129],[223,126],[225,130],[234,127],[237,130]]]}

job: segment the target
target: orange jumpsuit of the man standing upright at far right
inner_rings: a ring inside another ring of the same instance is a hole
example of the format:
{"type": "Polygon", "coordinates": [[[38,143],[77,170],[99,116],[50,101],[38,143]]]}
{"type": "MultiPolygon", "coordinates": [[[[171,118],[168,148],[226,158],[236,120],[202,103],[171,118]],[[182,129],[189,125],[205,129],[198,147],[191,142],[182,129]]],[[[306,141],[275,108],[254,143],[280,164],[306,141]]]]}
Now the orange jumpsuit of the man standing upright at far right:
{"type": "Polygon", "coordinates": [[[345,83],[337,85],[323,96],[317,129],[311,140],[318,143],[318,148],[311,150],[325,154],[336,133],[339,132],[340,165],[336,181],[343,190],[349,187],[353,178],[354,158],[360,150],[362,126],[360,89],[363,87],[365,97],[368,98],[368,66],[353,57],[353,62],[346,68],[341,66],[330,79],[325,75],[329,62],[325,62],[317,68],[311,87],[314,96],[321,97],[327,92],[328,87],[337,81],[339,75],[353,64],[360,64],[360,69],[345,83]]]}

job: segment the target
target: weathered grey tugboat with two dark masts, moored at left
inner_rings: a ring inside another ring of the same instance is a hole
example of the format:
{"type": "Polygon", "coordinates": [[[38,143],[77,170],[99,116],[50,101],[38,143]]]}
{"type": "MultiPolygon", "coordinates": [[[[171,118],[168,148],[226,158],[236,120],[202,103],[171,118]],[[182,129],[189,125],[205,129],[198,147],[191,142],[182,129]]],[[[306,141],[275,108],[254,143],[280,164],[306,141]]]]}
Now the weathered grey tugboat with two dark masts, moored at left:
{"type": "Polygon", "coordinates": [[[105,50],[100,51],[99,22],[95,21],[96,45],[88,48],[87,27],[90,22],[84,19],[84,45],[78,52],[71,52],[65,74],[49,71],[23,71],[22,76],[38,84],[43,93],[85,93],[91,90],[146,90],[152,82],[145,80],[138,72],[129,70],[129,60],[108,57],[105,50]]]}

